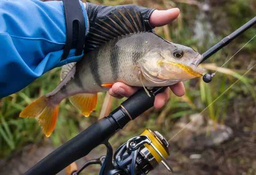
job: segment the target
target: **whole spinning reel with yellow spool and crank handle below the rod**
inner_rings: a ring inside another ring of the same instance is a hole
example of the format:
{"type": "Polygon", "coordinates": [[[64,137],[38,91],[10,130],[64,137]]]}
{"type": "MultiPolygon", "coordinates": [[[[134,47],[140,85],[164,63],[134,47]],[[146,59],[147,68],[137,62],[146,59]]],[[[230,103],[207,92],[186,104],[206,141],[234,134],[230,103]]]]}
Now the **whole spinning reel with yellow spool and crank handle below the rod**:
{"type": "Polygon", "coordinates": [[[169,156],[168,142],[157,131],[146,129],[141,135],[129,139],[117,148],[114,155],[111,145],[106,146],[106,156],[87,161],[79,169],[76,167],[71,170],[74,165],[70,165],[67,167],[69,170],[66,168],[67,172],[79,175],[88,165],[100,164],[100,175],[145,175],[155,169],[160,162],[172,172],[165,159],[169,156]]]}

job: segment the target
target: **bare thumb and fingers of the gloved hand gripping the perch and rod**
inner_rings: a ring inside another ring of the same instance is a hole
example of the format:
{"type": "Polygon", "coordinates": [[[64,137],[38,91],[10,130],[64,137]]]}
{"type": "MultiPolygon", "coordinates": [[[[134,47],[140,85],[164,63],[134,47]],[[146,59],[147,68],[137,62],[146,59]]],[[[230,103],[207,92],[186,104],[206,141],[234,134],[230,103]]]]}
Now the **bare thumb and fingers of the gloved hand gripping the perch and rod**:
{"type": "MultiPolygon", "coordinates": [[[[149,18],[149,24],[152,27],[159,27],[171,23],[180,14],[178,8],[172,8],[169,10],[159,11],[154,10],[149,18]]],[[[182,82],[178,82],[175,85],[169,86],[172,92],[176,96],[183,96],[185,94],[185,87],[182,82]]],[[[122,82],[116,82],[112,88],[108,90],[108,93],[115,98],[122,99],[123,97],[129,97],[133,95],[139,87],[131,87],[122,82]]],[[[154,107],[161,108],[169,99],[169,88],[166,88],[163,93],[159,93],[155,96],[154,107]]]]}

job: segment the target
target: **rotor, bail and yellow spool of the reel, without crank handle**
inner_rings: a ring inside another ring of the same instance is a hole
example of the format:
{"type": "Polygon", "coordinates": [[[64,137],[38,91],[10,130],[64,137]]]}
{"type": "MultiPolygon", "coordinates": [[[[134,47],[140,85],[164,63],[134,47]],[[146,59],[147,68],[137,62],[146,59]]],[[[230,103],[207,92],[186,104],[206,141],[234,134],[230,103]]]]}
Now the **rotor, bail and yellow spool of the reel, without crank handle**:
{"type": "Polygon", "coordinates": [[[128,175],[143,175],[155,169],[160,162],[172,172],[167,164],[168,143],[157,131],[146,129],[141,135],[129,139],[114,154],[114,167],[128,175]]]}

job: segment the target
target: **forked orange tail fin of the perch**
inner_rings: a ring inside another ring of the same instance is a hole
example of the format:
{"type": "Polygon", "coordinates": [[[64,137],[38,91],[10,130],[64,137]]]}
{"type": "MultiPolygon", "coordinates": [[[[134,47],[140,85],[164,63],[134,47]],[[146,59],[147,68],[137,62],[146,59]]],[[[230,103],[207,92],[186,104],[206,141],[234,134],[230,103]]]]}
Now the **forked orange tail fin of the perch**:
{"type": "Polygon", "coordinates": [[[59,105],[52,105],[47,97],[42,96],[21,111],[20,117],[35,118],[43,129],[44,134],[49,137],[54,130],[58,110],[59,105]]]}

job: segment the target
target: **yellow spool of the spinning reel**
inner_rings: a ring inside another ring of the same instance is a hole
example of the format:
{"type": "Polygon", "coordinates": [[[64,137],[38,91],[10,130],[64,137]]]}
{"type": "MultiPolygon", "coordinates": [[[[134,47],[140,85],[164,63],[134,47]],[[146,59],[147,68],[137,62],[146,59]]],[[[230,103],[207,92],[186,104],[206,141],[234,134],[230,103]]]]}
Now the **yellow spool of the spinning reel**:
{"type": "MultiPolygon", "coordinates": [[[[141,135],[147,135],[152,141],[152,144],[157,148],[157,150],[161,152],[164,158],[170,155],[166,145],[164,145],[163,142],[151,130],[146,129],[141,135]]],[[[160,155],[158,155],[158,153],[154,150],[154,148],[151,145],[144,144],[144,146],[154,156],[154,158],[157,160],[158,163],[162,161],[162,158],[160,157],[160,155]]]]}

